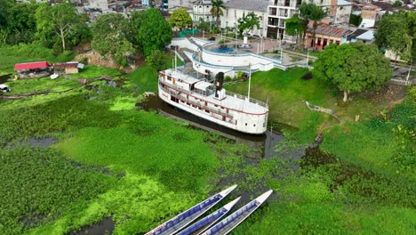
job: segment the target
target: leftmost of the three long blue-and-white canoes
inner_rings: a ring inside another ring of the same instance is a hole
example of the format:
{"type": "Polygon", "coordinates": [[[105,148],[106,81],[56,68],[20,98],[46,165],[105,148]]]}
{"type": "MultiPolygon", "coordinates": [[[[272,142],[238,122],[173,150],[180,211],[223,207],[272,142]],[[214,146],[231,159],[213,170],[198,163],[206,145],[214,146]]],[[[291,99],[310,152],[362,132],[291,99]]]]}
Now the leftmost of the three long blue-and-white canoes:
{"type": "Polygon", "coordinates": [[[189,208],[180,215],[176,215],[171,220],[157,226],[156,229],[149,231],[146,235],[167,235],[175,234],[182,228],[196,220],[197,217],[203,215],[211,207],[215,206],[220,200],[227,197],[227,195],[236,189],[236,185],[229,187],[227,190],[222,190],[209,199],[205,199],[194,207],[189,208]]]}

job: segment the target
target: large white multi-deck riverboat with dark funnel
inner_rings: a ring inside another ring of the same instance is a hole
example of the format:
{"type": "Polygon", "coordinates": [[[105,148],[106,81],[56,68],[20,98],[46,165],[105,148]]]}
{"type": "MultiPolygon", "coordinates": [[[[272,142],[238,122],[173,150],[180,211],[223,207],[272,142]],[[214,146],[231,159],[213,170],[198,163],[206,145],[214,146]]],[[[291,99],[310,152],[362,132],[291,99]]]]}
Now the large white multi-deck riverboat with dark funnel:
{"type": "Polygon", "coordinates": [[[160,99],[174,107],[220,126],[246,134],[263,134],[268,125],[268,104],[230,93],[222,88],[224,74],[216,76],[215,88],[176,69],[159,72],[160,99]]]}

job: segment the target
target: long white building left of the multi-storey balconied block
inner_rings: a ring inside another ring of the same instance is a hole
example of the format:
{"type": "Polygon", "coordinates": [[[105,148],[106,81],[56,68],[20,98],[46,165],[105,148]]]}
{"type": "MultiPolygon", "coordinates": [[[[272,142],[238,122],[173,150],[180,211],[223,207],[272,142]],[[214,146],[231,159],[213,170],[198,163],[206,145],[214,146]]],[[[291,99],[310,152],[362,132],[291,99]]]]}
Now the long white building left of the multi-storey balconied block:
{"type": "MultiPolygon", "coordinates": [[[[254,12],[260,16],[260,28],[254,28],[250,32],[255,36],[267,36],[268,29],[268,0],[230,0],[224,15],[220,17],[220,28],[236,27],[238,19],[248,12],[254,12]]],[[[215,20],[215,19],[214,19],[215,20]]]]}

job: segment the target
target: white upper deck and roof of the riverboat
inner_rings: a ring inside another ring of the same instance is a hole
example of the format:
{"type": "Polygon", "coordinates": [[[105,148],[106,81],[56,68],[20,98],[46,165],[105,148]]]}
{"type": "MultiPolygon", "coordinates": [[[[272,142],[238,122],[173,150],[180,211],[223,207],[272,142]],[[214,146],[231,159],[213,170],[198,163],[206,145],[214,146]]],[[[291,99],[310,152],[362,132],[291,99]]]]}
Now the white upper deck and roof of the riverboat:
{"type": "Polygon", "coordinates": [[[208,101],[214,105],[218,105],[220,107],[228,108],[228,109],[235,109],[240,112],[244,112],[247,114],[253,115],[260,115],[268,113],[268,104],[262,101],[258,101],[252,98],[248,98],[247,96],[231,93],[226,91],[226,98],[223,100],[215,99],[214,90],[211,89],[206,82],[196,79],[195,77],[188,76],[180,71],[175,71],[173,69],[167,69],[161,71],[162,75],[166,75],[168,77],[173,77],[177,79],[177,82],[184,83],[188,85],[192,85],[191,87],[205,87],[205,90],[193,89],[190,90],[184,89],[180,84],[175,83],[175,85],[171,83],[167,83],[164,81],[163,77],[159,77],[159,81],[163,82],[164,85],[170,86],[172,89],[179,91],[180,93],[188,93],[193,95],[197,99],[202,101],[208,101]],[[198,85],[200,84],[200,85],[198,85]]]}

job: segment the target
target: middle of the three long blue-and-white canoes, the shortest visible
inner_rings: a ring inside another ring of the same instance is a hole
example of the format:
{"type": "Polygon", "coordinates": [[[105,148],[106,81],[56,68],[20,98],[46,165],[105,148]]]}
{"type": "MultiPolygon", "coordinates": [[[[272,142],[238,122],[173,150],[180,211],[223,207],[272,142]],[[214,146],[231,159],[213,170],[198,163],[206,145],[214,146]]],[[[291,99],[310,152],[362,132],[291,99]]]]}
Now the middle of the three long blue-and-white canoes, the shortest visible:
{"type": "Polygon", "coordinates": [[[229,202],[224,207],[220,207],[220,209],[216,210],[210,215],[207,215],[204,217],[204,219],[190,225],[188,228],[186,228],[183,231],[180,231],[178,235],[189,235],[189,234],[201,234],[203,231],[207,230],[209,227],[211,227],[212,224],[216,223],[220,220],[224,215],[226,215],[234,205],[236,205],[236,202],[241,199],[241,197],[234,199],[233,201],[229,202]]]}

